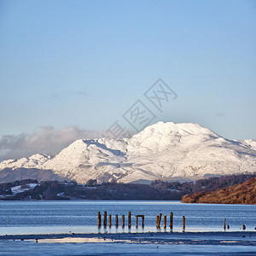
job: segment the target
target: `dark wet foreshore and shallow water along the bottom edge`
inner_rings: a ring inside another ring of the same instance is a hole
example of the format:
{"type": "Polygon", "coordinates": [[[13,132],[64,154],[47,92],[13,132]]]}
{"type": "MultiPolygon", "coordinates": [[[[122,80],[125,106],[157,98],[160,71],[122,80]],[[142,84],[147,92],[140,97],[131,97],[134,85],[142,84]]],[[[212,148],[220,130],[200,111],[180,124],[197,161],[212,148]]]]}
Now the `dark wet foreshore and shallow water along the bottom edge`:
{"type": "Polygon", "coordinates": [[[256,255],[256,231],[0,236],[3,255],[256,255]],[[50,253],[49,253],[50,252],[50,253]]]}

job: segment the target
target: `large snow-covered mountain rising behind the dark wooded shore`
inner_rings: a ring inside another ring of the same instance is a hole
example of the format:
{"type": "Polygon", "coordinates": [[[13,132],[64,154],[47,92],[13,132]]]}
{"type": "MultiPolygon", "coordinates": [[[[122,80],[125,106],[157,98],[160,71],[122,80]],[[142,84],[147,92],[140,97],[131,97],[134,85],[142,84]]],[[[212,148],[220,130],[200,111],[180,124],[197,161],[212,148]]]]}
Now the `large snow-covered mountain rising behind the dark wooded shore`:
{"type": "MultiPolygon", "coordinates": [[[[256,141],[232,141],[196,124],[159,122],[131,138],[77,140],[50,157],[5,160],[0,170],[37,168],[78,183],[198,179],[256,172],[256,141]]],[[[1,171],[0,171],[1,180],[1,171]]]]}

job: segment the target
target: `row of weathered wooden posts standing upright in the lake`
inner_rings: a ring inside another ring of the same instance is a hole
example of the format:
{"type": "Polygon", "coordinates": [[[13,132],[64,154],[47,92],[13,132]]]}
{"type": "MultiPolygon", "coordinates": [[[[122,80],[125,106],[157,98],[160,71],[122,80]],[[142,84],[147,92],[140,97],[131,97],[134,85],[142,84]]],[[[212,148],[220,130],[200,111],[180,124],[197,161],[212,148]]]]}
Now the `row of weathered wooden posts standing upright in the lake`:
{"type": "MultiPolygon", "coordinates": [[[[160,222],[161,222],[162,213],[160,215],[156,216],[156,228],[160,229],[160,222]]],[[[144,227],[144,220],[145,215],[136,215],[136,228],[138,225],[138,218],[142,218],[142,226],[144,227]]],[[[107,212],[104,212],[104,218],[103,218],[103,225],[107,226],[107,212]]],[[[112,225],[112,216],[111,214],[108,215],[108,226],[111,227],[112,225]]],[[[119,226],[119,215],[115,214],[115,225],[116,227],[119,226]]],[[[98,212],[98,226],[102,226],[102,214],[101,212],[98,212]]],[[[122,215],[122,227],[125,227],[125,215],[122,215]]],[[[167,227],[167,217],[164,215],[164,229],[167,227]]],[[[131,229],[131,212],[128,213],[128,228],[131,229]]],[[[173,229],[173,212],[171,212],[170,215],[170,228],[173,229]]],[[[185,216],[183,216],[183,230],[186,228],[186,219],[185,216]]]]}

